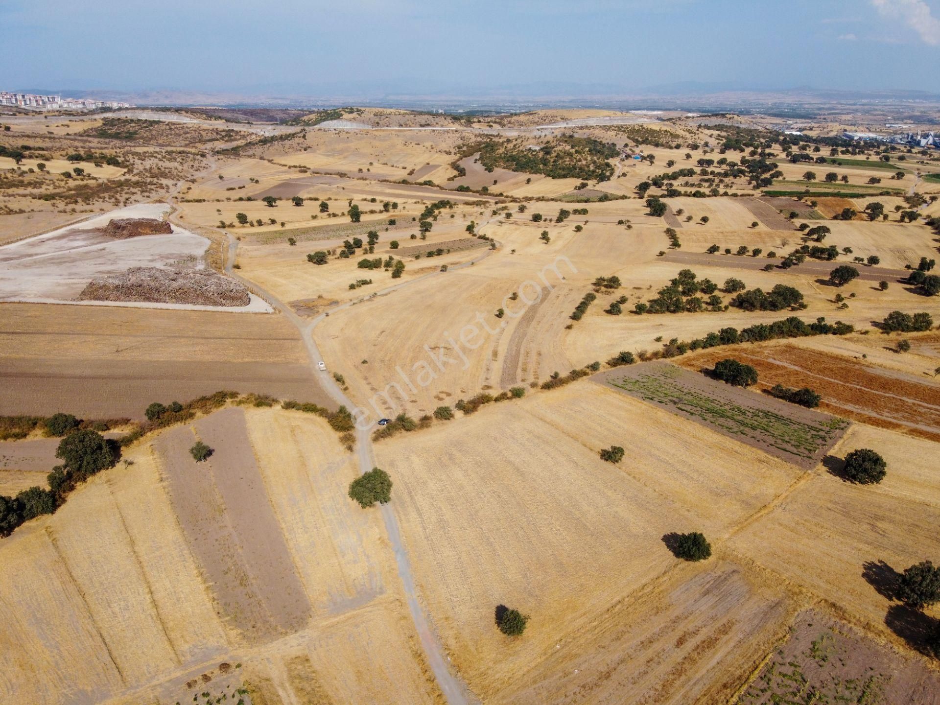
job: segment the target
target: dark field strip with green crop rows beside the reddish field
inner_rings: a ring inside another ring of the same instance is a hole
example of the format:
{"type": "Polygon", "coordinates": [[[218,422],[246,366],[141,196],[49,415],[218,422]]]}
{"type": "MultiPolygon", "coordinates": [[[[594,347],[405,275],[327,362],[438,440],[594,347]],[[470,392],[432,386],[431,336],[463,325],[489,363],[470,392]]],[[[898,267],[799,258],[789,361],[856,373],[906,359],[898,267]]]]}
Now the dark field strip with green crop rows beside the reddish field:
{"type": "Polygon", "coordinates": [[[616,368],[593,379],[805,469],[820,462],[849,426],[836,416],[760,397],[665,362],[616,368]]]}

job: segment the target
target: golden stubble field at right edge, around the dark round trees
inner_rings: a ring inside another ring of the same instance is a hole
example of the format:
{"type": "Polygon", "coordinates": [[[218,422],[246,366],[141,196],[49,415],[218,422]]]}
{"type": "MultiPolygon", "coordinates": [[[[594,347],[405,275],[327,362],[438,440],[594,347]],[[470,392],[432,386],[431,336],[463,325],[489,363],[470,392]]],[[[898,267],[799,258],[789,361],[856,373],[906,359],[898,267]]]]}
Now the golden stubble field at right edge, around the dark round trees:
{"type": "MultiPolygon", "coordinates": [[[[936,523],[940,511],[916,497],[890,492],[895,482],[903,487],[924,478],[934,463],[911,454],[904,436],[885,440],[891,445],[879,450],[888,455],[893,448],[903,454],[903,462],[889,465],[884,489],[849,483],[838,477],[838,462],[830,462],[830,471],[823,466],[776,507],[744,526],[727,546],[831,604],[843,619],[903,647],[909,645],[907,635],[885,620],[897,605],[885,598],[878,573],[894,575],[936,556],[940,540],[924,527],[936,523]],[[807,532],[813,536],[811,543],[801,539],[807,532]]],[[[852,449],[850,435],[834,453],[843,456],[852,449]]],[[[932,485],[932,480],[920,482],[925,489],[932,485]]]]}

